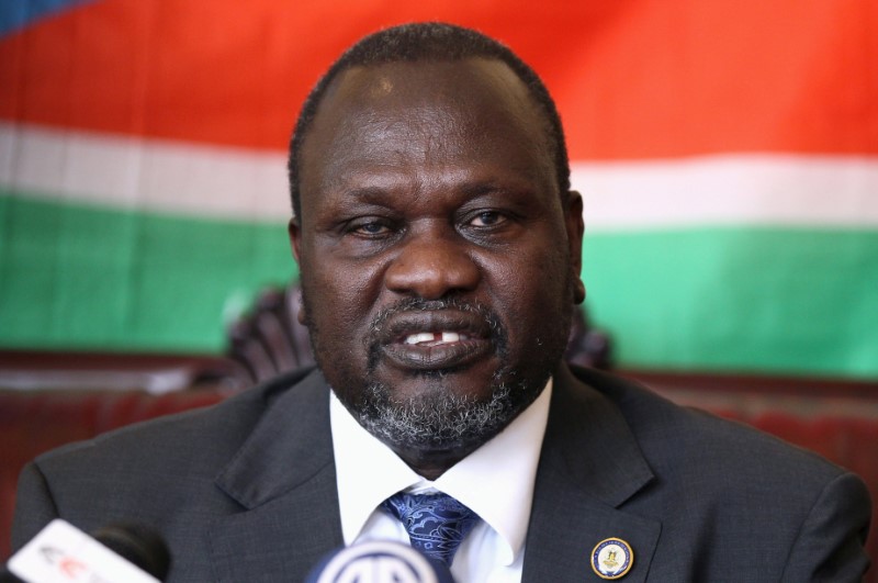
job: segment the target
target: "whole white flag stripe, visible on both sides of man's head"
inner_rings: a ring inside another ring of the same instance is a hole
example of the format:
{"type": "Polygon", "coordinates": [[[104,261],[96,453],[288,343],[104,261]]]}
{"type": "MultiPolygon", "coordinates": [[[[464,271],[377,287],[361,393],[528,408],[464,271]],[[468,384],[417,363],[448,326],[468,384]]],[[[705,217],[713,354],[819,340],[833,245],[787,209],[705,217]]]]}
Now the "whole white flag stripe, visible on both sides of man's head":
{"type": "MultiPolygon", "coordinates": [[[[878,158],[721,155],[574,162],[589,231],[878,226],[878,158]]],[[[0,123],[0,186],[47,199],[282,222],[285,155],[0,123]]]]}

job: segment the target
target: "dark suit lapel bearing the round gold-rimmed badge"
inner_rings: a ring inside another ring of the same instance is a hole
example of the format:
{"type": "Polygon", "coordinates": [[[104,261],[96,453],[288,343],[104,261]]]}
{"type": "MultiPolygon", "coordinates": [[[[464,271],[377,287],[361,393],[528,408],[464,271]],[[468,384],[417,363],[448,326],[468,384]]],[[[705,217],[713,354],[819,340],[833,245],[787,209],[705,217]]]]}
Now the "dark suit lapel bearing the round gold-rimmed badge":
{"type": "Polygon", "coordinates": [[[577,381],[566,366],[554,375],[522,581],[600,581],[592,550],[604,539],[633,549],[622,581],[644,581],[661,523],[620,506],[652,479],[640,448],[616,405],[577,381]]]}

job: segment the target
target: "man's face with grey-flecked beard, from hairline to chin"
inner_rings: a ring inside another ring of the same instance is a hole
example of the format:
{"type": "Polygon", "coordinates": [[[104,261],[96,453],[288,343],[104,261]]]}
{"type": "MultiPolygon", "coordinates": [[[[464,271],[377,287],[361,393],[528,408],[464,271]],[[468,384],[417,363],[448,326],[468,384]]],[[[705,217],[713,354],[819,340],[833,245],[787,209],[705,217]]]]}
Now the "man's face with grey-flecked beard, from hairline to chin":
{"type": "Polygon", "coordinates": [[[539,395],[579,295],[582,202],[524,83],[483,59],[350,69],[301,160],[291,238],[326,379],[407,461],[468,453],[539,395]]]}

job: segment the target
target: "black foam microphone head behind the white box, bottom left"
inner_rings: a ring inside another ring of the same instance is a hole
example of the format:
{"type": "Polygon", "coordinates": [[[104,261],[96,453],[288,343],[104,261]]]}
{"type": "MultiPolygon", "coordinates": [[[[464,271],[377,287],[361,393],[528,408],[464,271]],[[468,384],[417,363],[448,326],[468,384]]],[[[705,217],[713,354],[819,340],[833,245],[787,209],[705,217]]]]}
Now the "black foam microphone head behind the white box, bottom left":
{"type": "Polygon", "coordinates": [[[159,581],[171,567],[171,554],[161,536],[136,523],[114,523],[91,532],[98,542],[159,581]]]}

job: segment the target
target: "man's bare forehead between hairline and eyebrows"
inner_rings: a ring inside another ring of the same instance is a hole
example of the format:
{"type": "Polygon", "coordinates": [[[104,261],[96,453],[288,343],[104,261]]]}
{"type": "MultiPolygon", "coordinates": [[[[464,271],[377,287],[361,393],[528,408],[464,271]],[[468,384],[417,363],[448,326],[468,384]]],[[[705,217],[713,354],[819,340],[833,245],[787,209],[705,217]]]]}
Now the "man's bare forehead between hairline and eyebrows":
{"type": "Polygon", "coordinates": [[[554,182],[544,122],[497,60],[356,67],[328,88],[302,150],[303,202],[351,175],[474,165],[554,182]]]}

